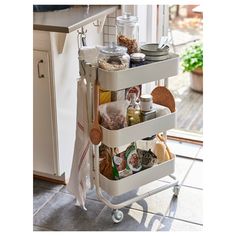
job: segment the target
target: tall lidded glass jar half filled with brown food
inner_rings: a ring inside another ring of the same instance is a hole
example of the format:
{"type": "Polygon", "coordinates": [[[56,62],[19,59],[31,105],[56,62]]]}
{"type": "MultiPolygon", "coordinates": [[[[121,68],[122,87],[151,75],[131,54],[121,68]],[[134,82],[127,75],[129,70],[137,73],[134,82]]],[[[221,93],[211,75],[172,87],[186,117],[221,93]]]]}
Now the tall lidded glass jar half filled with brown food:
{"type": "Polygon", "coordinates": [[[129,54],[138,52],[138,17],[125,13],[123,16],[118,16],[116,22],[117,44],[127,47],[129,54]]]}

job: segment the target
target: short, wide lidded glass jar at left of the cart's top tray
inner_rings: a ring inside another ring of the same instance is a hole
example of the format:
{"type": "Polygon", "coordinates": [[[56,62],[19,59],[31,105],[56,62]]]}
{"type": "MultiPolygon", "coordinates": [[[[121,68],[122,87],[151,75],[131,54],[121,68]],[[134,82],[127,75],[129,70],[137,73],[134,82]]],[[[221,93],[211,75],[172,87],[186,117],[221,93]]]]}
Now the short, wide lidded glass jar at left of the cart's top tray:
{"type": "Polygon", "coordinates": [[[108,71],[124,70],[129,68],[130,56],[127,48],[117,46],[114,43],[100,50],[98,55],[98,66],[108,71]]]}

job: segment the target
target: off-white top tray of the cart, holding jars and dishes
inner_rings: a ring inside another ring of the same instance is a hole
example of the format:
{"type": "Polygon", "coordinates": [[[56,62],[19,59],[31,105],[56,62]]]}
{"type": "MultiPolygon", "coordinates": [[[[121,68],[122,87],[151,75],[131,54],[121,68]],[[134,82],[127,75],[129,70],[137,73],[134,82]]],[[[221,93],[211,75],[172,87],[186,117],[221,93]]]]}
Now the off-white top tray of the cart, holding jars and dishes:
{"type": "Polygon", "coordinates": [[[178,74],[179,57],[170,54],[164,61],[153,62],[120,71],[98,69],[98,80],[102,89],[117,91],[139,84],[158,81],[178,74]]]}

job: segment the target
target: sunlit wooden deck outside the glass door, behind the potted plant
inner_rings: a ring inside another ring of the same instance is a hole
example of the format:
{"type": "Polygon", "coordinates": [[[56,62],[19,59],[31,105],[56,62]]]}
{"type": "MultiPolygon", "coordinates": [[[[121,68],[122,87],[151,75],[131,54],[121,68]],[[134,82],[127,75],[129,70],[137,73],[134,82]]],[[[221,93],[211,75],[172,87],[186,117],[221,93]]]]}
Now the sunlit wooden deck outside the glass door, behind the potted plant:
{"type": "MultiPolygon", "coordinates": [[[[202,39],[202,26],[196,25],[196,18],[170,22],[173,43],[177,54],[183,52],[194,40],[202,39]],[[195,24],[191,24],[193,21],[195,24]]],[[[169,89],[175,96],[177,109],[177,129],[203,133],[203,94],[193,91],[190,87],[189,73],[183,73],[169,79],[169,89]]]]}

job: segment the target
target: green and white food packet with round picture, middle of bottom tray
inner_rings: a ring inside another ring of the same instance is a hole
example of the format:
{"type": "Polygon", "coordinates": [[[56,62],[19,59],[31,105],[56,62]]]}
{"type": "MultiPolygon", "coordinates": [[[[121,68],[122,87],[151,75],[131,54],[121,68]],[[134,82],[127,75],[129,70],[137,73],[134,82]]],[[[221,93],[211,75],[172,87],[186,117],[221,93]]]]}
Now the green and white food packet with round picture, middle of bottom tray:
{"type": "Polygon", "coordinates": [[[138,172],[142,169],[142,159],[137,153],[136,143],[133,142],[125,151],[127,166],[133,171],[138,172]]]}

